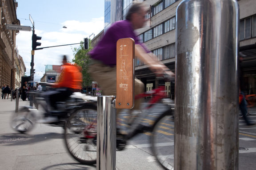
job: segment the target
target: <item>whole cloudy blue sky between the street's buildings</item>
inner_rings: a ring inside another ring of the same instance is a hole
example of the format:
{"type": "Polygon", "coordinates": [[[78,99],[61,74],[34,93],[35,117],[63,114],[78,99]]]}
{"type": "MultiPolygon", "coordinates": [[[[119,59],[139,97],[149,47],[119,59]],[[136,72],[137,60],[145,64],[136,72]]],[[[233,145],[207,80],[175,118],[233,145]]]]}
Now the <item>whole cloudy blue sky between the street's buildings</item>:
{"type": "MultiPolygon", "coordinates": [[[[20,25],[32,27],[35,34],[42,37],[40,47],[59,46],[93,38],[104,29],[104,0],[16,0],[17,18],[20,25]],[[63,28],[66,26],[67,28],[63,28]],[[94,35],[92,35],[94,34],[94,35]]],[[[26,66],[26,75],[30,75],[32,31],[19,31],[16,46],[26,66]]],[[[34,81],[40,82],[45,73],[45,65],[61,65],[62,56],[68,55],[68,61],[74,58],[73,49],[77,45],[59,46],[35,50],[34,81]]]]}

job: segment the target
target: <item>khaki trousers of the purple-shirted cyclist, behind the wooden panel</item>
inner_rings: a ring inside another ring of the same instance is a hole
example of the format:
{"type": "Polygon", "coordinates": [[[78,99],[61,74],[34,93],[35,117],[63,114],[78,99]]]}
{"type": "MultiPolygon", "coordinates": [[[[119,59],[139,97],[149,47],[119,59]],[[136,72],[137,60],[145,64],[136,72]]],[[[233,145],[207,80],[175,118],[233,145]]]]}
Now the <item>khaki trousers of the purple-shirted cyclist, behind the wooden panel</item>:
{"type": "MultiPolygon", "coordinates": [[[[110,67],[102,63],[89,66],[89,73],[93,81],[97,81],[105,96],[116,96],[116,66],[110,67]]],[[[134,80],[134,95],[144,92],[144,84],[139,79],[134,80]]],[[[142,99],[135,100],[133,109],[140,109],[142,99]]],[[[117,114],[120,111],[117,110],[117,114]]]]}

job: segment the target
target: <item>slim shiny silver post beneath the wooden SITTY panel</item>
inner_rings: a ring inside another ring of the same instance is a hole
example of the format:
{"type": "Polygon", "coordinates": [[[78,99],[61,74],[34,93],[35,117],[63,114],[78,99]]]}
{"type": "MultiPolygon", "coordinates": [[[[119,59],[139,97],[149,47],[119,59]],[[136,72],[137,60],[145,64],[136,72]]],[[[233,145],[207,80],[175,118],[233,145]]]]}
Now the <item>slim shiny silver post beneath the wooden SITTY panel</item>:
{"type": "Polygon", "coordinates": [[[114,96],[98,96],[97,170],[116,169],[116,108],[114,96]]]}

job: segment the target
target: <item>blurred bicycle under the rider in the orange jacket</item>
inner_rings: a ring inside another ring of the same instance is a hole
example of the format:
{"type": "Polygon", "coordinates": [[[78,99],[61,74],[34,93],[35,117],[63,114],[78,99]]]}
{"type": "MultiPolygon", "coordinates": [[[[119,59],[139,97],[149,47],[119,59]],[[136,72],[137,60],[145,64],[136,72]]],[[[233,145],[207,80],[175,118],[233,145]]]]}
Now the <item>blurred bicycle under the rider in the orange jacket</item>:
{"type": "MultiPolygon", "coordinates": [[[[44,93],[29,92],[32,103],[35,107],[24,106],[12,115],[11,127],[20,133],[31,131],[36,123],[44,120],[44,114],[48,113],[56,116],[58,121],[48,123],[51,126],[64,127],[64,124],[71,113],[80,106],[90,105],[92,97],[82,95],[81,93],[73,93],[65,101],[57,102],[58,110],[49,111],[45,101],[44,93]]],[[[94,100],[95,101],[95,100],[94,100]]]]}

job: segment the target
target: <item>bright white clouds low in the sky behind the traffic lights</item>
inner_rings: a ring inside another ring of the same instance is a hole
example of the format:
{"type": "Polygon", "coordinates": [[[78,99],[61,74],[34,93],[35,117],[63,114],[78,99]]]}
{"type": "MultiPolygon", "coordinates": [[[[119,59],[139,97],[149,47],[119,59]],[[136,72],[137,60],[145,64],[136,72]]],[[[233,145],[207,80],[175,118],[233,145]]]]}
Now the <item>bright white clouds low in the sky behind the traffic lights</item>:
{"type": "MultiPolygon", "coordinates": [[[[59,46],[65,44],[79,43],[84,38],[89,37],[92,33],[99,34],[104,29],[104,17],[92,19],[90,22],[80,22],[76,20],[69,20],[62,23],[67,28],[61,28],[58,31],[44,31],[37,30],[36,35],[42,37],[40,47],[58,46],[44,48],[43,50],[35,50],[34,55],[34,75],[35,81],[40,81],[40,78],[45,72],[45,65],[60,65],[61,56],[68,55],[68,61],[72,61],[74,47],[77,45],[59,46]]],[[[16,36],[16,46],[19,50],[20,56],[23,58],[26,66],[26,75],[30,75],[31,50],[32,50],[32,31],[20,31],[16,36]]]]}

